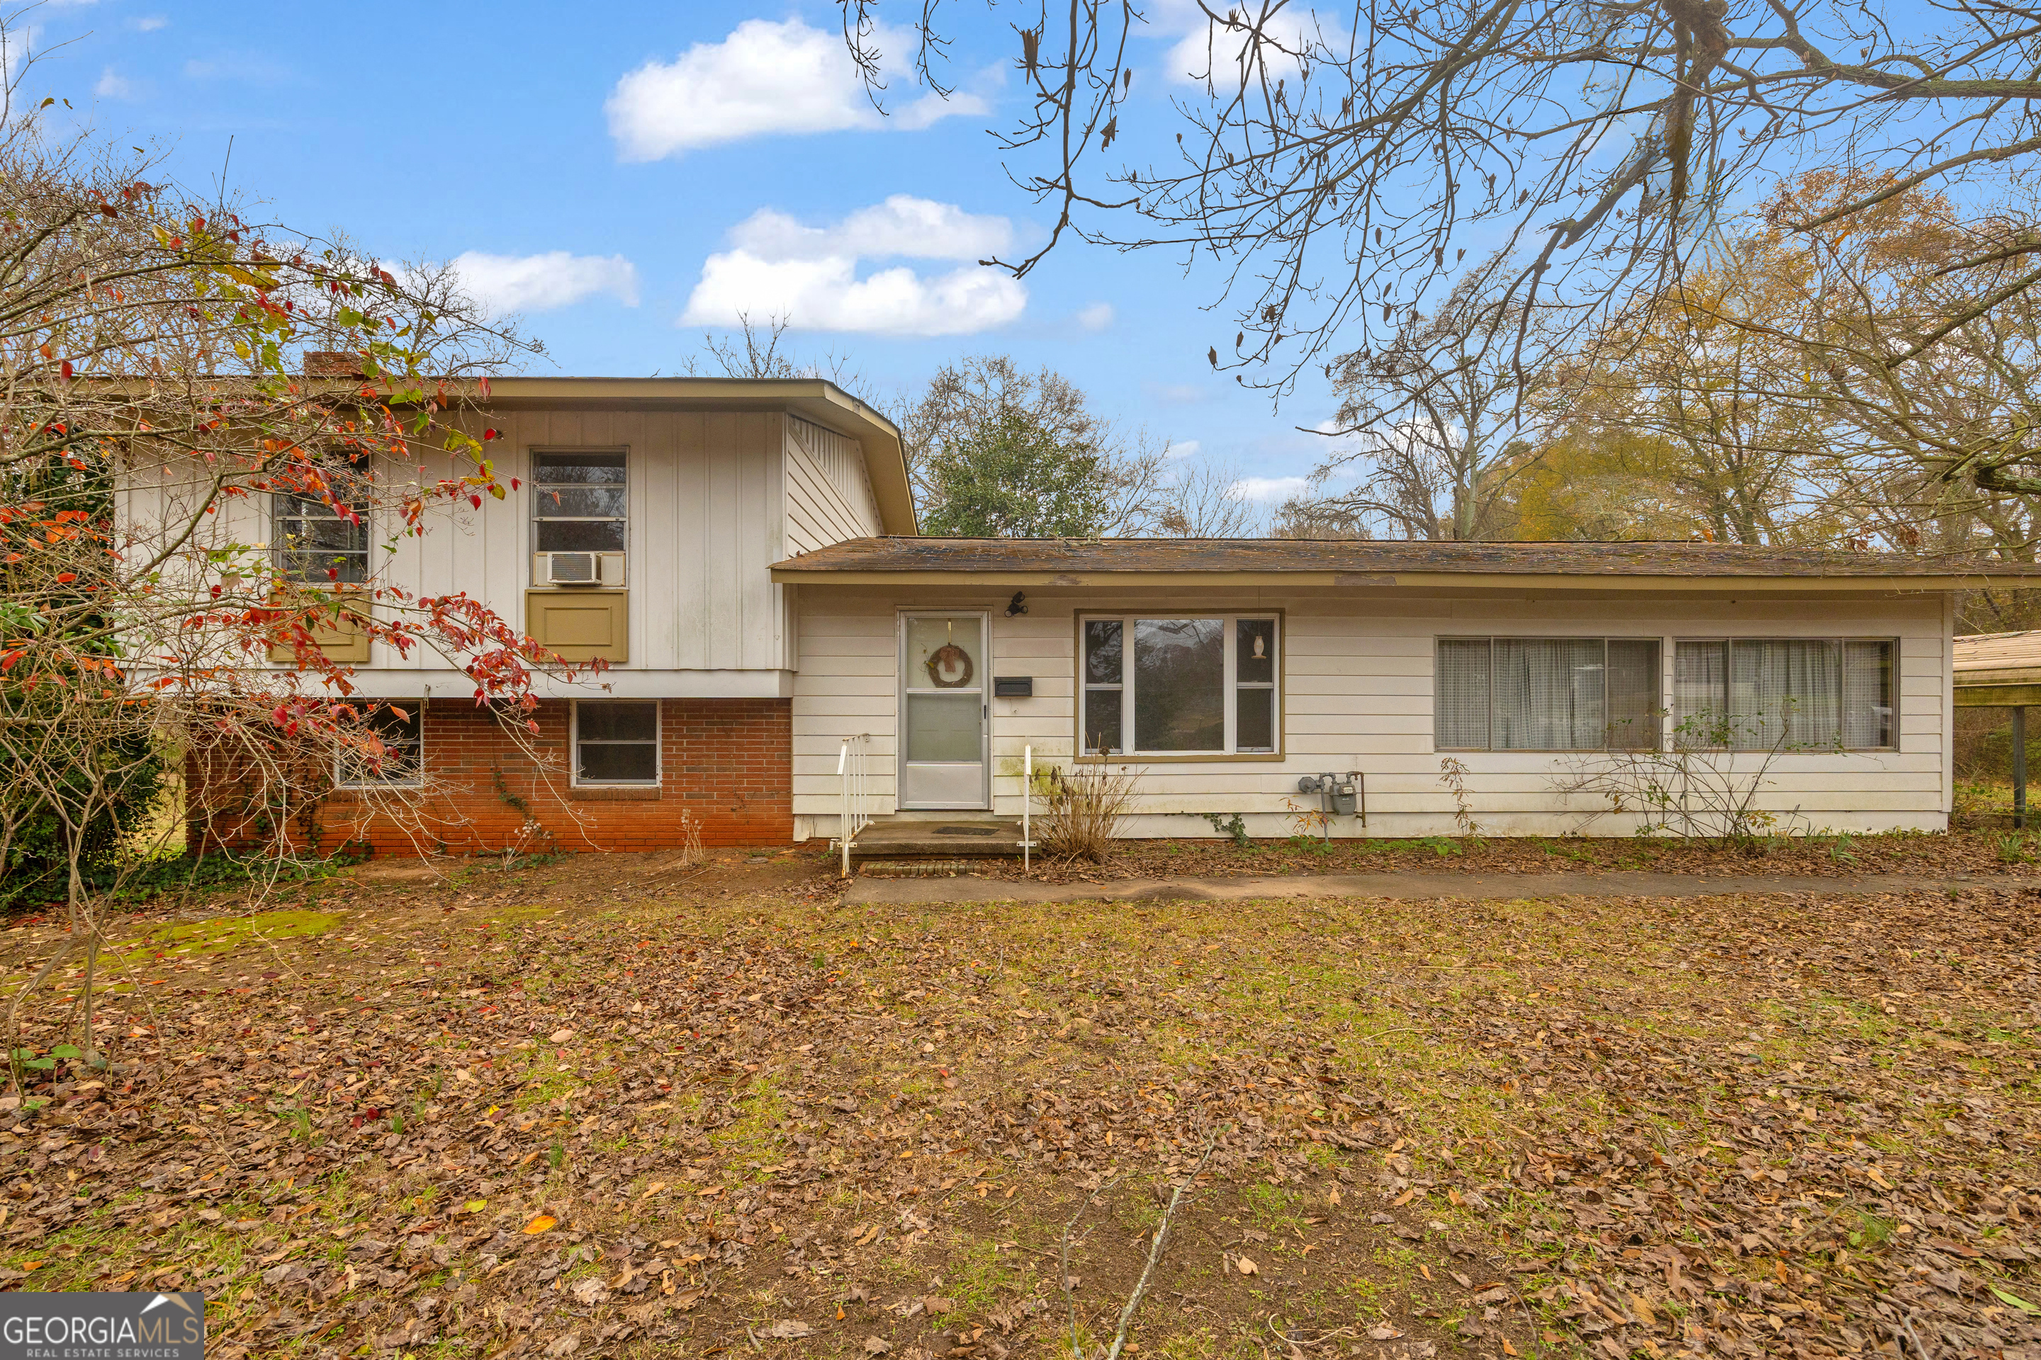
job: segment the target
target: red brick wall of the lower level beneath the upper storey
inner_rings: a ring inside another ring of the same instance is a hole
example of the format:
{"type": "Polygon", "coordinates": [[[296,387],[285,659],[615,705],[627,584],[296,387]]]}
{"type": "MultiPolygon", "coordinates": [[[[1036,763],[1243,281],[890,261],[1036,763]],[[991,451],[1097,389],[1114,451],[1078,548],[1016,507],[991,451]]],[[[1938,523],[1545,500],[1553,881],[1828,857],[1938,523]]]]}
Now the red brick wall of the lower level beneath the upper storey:
{"type": "MultiPolygon", "coordinates": [[[[427,787],[390,812],[335,789],[292,836],[376,856],[539,850],[665,850],[684,844],[682,814],[704,846],[794,840],[794,705],[790,699],[661,699],[657,789],[571,789],[567,703],[543,701],[537,736],[520,746],[498,718],[469,703],[425,710],[427,787]]],[[[188,777],[198,779],[194,767],[188,777]]],[[[204,836],[194,828],[194,844],[204,836]]],[[[245,834],[204,840],[243,842],[245,834]]]]}

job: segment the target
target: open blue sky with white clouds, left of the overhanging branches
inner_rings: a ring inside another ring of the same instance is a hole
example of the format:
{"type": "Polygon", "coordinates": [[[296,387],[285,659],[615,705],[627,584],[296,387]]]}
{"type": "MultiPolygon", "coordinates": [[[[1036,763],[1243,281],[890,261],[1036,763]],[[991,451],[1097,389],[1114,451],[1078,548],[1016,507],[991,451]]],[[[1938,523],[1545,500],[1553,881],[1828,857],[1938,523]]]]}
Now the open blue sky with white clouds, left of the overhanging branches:
{"type": "MultiPolygon", "coordinates": [[[[1192,27],[1182,0],[1149,10],[1135,147],[1167,133],[1186,67],[1172,47],[1192,27]]],[[[229,184],[278,218],[347,228],[384,257],[463,261],[563,373],[682,371],[749,300],[753,316],[790,312],[802,353],[847,355],[886,394],[969,353],[1051,365],[1123,426],[1270,479],[1265,495],[1321,453],[1294,426],[1331,412],[1323,389],[1272,412],[1206,365],[1233,332],[1206,310],[1214,269],[1076,241],[1025,283],[976,267],[1053,220],[986,133],[1020,98],[1018,43],[978,6],[945,8],[967,24],[955,98],[894,75],[888,118],[851,84],[835,4],[255,12],[45,4],[29,22],[49,55],[29,84],[108,141],[165,149],[186,186],[210,192],[233,137],[229,184]]]]}

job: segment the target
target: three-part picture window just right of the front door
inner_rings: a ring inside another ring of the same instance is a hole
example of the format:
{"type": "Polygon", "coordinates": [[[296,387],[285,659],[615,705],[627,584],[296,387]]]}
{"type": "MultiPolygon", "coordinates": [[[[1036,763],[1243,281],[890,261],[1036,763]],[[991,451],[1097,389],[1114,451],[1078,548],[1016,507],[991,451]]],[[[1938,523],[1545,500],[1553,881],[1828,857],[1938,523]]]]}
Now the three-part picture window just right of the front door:
{"type": "Polygon", "coordinates": [[[1086,754],[1276,754],[1282,748],[1274,616],[1086,616],[1086,754]]]}

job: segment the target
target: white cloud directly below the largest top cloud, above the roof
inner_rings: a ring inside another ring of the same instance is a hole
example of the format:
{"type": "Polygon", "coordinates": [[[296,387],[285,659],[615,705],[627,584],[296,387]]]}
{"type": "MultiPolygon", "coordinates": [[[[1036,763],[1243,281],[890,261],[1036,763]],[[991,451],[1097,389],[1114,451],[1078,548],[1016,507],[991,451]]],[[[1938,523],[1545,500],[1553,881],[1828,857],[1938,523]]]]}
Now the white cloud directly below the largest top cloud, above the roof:
{"type": "Polygon", "coordinates": [[[1027,287],[1004,271],[963,265],[920,275],[894,265],[857,275],[859,261],[980,259],[1012,241],[1006,218],[896,194],[829,226],[761,208],[710,255],[682,312],[684,326],[735,326],[780,316],[800,330],[976,334],[1020,316],[1027,287]]]}

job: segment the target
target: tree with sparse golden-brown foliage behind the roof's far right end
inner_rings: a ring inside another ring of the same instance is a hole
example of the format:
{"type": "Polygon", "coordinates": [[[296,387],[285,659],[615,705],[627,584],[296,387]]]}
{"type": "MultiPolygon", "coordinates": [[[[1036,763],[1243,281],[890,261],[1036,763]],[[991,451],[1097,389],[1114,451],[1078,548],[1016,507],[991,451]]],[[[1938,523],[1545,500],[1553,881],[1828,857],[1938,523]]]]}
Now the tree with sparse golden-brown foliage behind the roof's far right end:
{"type": "Polygon", "coordinates": [[[1961,208],[1906,190],[1794,230],[1876,184],[1794,177],[1714,259],[1608,326],[1578,422],[1678,447],[1667,475],[1729,536],[1788,520],[1900,548],[2033,553],[2041,296],[2021,259],[2035,202],[1961,208]]]}

